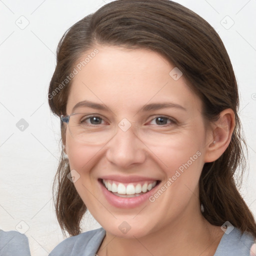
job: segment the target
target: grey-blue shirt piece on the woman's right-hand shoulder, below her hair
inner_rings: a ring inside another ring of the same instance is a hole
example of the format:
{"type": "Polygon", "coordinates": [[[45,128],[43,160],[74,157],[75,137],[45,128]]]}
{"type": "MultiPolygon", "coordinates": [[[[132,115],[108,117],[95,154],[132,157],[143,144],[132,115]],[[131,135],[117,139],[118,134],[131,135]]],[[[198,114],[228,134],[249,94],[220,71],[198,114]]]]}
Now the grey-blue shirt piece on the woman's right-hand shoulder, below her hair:
{"type": "Polygon", "coordinates": [[[229,233],[224,233],[214,256],[249,256],[254,237],[248,232],[234,227],[229,233]]]}

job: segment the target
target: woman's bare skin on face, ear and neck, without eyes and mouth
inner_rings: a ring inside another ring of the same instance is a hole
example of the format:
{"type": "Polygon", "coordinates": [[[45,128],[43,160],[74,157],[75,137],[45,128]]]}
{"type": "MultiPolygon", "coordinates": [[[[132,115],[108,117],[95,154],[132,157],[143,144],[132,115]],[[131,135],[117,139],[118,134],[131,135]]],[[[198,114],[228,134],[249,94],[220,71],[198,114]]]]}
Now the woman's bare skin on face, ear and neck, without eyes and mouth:
{"type": "Polygon", "coordinates": [[[225,109],[218,121],[206,127],[201,100],[184,76],[174,80],[169,75],[174,66],[163,56],[146,49],[96,47],[99,53],[72,79],[66,112],[70,114],[73,106],[85,99],[103,102],[108,112],[92,108],[83,111],[100,114],[112,127],[118,127],[122,118],[132,124],[125,132],[116,128],[107,143],[82,143],[66,131],[70,169],[80,175],[75,188],[106,230],[97,254],[213,255],[223,231],[202,216],[198,181],[203,164],[217,159],[230,142],[233,111],[225,109]],[[186,110],[172,107],[139,111],[145,104],[163,101],[186,110]],[[155,122],[157,116],[178,122],[162,127],[155,122]],[[144,133],[137,133],[142,129],[144,133]],[[200,156],[154,202],[120,209],[110,205],[100,190],[97,179],[105,174],[150,176],[161,180],[161,186],[197,151],[200,156]],[[118,228],[122,221],[131,227],[125,234],[118,228]]]}

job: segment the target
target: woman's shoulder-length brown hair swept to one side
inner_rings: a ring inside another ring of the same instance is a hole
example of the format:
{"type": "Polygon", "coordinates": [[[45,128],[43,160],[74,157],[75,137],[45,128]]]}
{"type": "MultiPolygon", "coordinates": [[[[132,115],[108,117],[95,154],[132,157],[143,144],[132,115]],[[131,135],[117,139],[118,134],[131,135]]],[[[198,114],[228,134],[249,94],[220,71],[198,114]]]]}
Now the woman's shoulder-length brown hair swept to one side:
{"type": "MultiPolygon", "coordinates": [[[[207,123],[226,108],[234,111],[235,128],[228,147],[217,160],[203,166],[199,199],[208,222],[220,226],[228,220],[242,233],[248,231],[256,237],[256,223],[234,180],[240,165],[241,184],[245,167],[236,79],[213,27],[193,11],[169,0],[117,0],[105,4],[72,25],[58,43],[56,68],[48,91],[50,108],[57,116],[66,113],[72,80],[54,96],[53,91],[70,74],[81,55],[100,44],[145,48],[162,54],[182,71],[190,88],[200,96],[207,123]]],[[[61,135],[65,144],[63,123],[61,135]]],[[[53,183],[54,203],[62,232],[76,235],[80,233],[86,206],[67,178],[69,171],[62,151],[53,183]]]]}

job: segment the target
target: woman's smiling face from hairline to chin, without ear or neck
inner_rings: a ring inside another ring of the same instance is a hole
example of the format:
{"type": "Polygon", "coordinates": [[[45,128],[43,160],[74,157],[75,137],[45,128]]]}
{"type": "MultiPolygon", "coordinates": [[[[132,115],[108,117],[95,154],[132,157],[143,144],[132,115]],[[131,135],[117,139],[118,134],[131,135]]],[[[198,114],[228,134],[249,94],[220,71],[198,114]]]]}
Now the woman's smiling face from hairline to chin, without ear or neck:
{"type": "Polygon", "coordinates": [[[123,237],[200,214],[198,180],[210,142],[200,99],[154,51],[97,49],[77,69],[66,108],[67,114],[84,113],[75,117],[82,124],[76,120],[66,129],[66,153],[83,202],[105,230],[123,237]],[[76,105],[84,100],[105,109],[76,105]]]}

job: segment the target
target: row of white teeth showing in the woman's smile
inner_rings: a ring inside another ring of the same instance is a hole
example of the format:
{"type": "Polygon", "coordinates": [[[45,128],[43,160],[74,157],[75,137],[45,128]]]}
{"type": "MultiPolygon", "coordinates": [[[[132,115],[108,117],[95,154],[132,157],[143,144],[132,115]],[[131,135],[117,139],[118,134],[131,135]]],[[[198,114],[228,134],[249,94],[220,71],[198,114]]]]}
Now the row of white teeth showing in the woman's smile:
{"type": "Polygon", "coordinates": [[[150,191],[155,185],[156,185],[156,180],[148,183],[145,182],[142,186],[141,184],[136,184],[134,186],[132,183],[129,183],[126,187],[123,183],[118,183],[118,185],[115,182],[112,182],[112,184],[108,180],[103,179],[103,183],[107,190],[113,192],[113,193],[118,193],[118,194],[126,194],[126,195],[131,195],[131,194],[139,194],[141,192],[145,193],[147,191],[150,191]]]}

